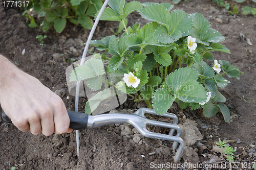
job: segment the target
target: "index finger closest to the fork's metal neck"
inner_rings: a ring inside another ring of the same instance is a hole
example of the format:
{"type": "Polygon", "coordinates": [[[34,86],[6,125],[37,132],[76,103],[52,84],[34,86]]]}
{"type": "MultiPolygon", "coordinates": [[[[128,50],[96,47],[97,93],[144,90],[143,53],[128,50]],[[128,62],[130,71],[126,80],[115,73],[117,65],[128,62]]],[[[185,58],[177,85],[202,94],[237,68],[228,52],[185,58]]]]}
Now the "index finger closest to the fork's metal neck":
{"type": "Polygon", "coordinates": [[[55,125],[55,133],[66,133],[69,130],[70,120],[67,109],[59,96],[54,102],[54,108],[53,121],[55,125]]]}

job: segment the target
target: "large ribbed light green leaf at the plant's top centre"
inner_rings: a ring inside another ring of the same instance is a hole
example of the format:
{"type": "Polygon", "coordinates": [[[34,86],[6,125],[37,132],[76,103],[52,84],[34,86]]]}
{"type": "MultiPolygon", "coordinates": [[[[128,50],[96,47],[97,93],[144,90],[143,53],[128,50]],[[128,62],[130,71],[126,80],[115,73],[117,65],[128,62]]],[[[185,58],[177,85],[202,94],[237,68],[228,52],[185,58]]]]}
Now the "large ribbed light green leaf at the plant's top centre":
{"type": "Polygon", "coordinates": [[[141,9],[140,15],[147,20],[160,23],[161,25],[165,26],[167,30],[170,29],[170,13],[160,4],[151,4],[145,6],[145,8],[141,9]]]}

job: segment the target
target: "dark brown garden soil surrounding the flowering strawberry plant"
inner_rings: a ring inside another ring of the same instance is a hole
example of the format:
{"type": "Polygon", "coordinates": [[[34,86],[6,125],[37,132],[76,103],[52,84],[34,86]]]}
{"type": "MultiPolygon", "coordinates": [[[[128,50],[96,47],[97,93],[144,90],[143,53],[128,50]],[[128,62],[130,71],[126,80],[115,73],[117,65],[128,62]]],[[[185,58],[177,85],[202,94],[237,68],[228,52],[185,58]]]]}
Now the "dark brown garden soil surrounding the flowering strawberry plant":
{"type": "MultiPolygon", "coordinates": [[[[141,0],[140,2],[146,1],[141,0]]],[[[151,2],[169,1],[154,0],[151,2]]],[[[234,5],[233,1],[229,2],[234,5]]],[[[255,6],[249,2],[238,4],[240,12],[243,6],[255,6]]],[[[205,143],[209,149],[211,149],[209,145],[221,138],[222,140],[234,140],[231,146],[238,147],[236,155],[241,154],[243,149],[247,152],[248,145],[256,141],[256,113],[254,112],[256,106],[254,97],[256,92],[256,69],[254,68],[256,64],[256,18],[252,15],[232,16],[212,1],[182,1],[175,5],[175,8],[182,9],[186,13],[202,13],[209,20],[211,28],[225,36],[222,44],[231,52],[231,54],[215,52],[212,53],[214,57],[218,60],[229,61],[243,71],[244,75],[240,80],[226,78],[231,83],[227,87],[219,89],[226,96],[226,104],[232,117],[231,123],[225,123],[220,113],[213,118],[205,118],[200,109],[191,112],[189,109],[182,110],[174,106],[170,111],[178,115],[181,123],[184,122],[184,119],[195,120],[203,135],[202,143],[205,143]],[[249,39],[251,44],[246,42],[244,37],[249,39]]],[[[129,25],[135,22],[145,24],[145,21],[140,19],[139,14],[136,13],[129,16],[128,19],[129,25]]],[[[21,15],[6,17],[1,6],[0,21],[0,52],[15,62],[17,67],[39,79],[52,91],[64,90],[65,92],[61,96],[62,100],[67,109],[74,110],[75,98],[69,94],[65,75],[65,70],[70,63],[63,61],[63,58],[66,61],[71,58],[80,59],[83,51],[83,46],[80,44],[86,42],[89,31],[84,33],[80,27],[69,24],[62,34],[48,32],[48,37],[44,40],[45,45],[40,45],[35,37],[44,33],[39,29],[29,28],[26,19],[21,15]],[[24,49],[26,52],[22,55],[24,49]],[[63,54],[63,58],[56,54],[63,54]],[[67,98],[68,96],[69,98],[67,98]]],[[[93,39],[101,39],[112,34],[111,29],[117,30],[116,27],[115,22],[100,22],[93,39]]],[[[80,98],[80,112],[83,112],[86,101],[86,98],[80,98]]],[[[126,102],[118,109],[132,112],[131,109],[136,107],[138,104],[126,102]]],[[[2,111],[1,107],[0,111],[2,111]]],[[[79,159],[76,155],[74,132],[62,135],[54,134],[49,137],[41,134],[34,136],[30,132],[20,132],[14,125],[3,121],[0,125],[0,169],[10,169],[15,166],[16,169],[130,170],[150,169],[151,162],[173,162],[173,151],[170,149],[172,143],[143,138],[135,132],[131,125],[109,125],[93,130],[81,130],[79,159]],[[129,134],[123,135],[123,129],[127,129],[129,134]],[[141,142],[137,143],[132,140],[135,135],[140,137],[141,142]]],[[[198,151],[198,155],[200,154],[198,151]]],[[[250,162],[254,161],[253,157],[248,159],[250,162]]],[[[184,159],[181,159],[181,162],[184,162],[184,159]]]]}

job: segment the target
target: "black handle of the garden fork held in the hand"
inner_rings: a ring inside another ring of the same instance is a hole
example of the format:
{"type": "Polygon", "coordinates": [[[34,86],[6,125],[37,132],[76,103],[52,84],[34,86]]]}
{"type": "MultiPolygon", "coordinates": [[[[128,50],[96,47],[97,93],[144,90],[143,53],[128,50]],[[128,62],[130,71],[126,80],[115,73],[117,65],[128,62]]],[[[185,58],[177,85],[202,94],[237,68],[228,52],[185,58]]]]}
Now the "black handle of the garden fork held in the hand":
{"type": "MultiPolygon", "coordinates": [[[[70,125],[69,127],[74,130],[78,129],[86,129],[87,123],[88,123],[88,114],[85,113],[79,113],[68,110],[69,119],[70,119],[70,125]]],[[[11,123],[11,119],[5,114],[5,112],[2,113],[2,119],[5,122],[11,123]]]]}

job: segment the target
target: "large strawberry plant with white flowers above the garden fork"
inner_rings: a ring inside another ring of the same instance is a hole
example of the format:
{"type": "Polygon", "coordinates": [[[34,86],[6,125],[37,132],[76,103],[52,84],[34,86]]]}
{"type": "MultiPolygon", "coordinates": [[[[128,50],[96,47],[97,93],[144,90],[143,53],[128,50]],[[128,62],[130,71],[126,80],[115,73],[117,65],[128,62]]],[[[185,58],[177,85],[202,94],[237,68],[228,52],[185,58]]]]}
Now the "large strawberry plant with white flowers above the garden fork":
{"type": "Polygon", "coordinates": [[[102,51],[101,59],[86,61],[70,76],[70,81],[86,80],[91,90],[100,90],[87,102],[87,113],[110,98],[109,89],[101,89],[112,86],[117,93],[135,94],[135,101],[145,101],[158,114],[165,113],[177,102],[181,108],[191,106],[192,110],[202,106],[206,117],[220,110],[224,120],[229,121],[226,99],[218,87],[230,83],[224,75],[239,79],[243,72],[225,60],[215,60],[209,66],[205,61],[214,60],[211,51],[230,53],[220,44],[224,37],[210,28],[202,14],[170,12],[172,8],[168,3],[109,2],[101,20],[120,21],[124,33],[120,37],[112,35],[92,41],[91,45],[102,51]],[[125,18],[135,11],[150,22],[143,27],[135,23],[126,28],[125,18]],[[105,71],[102,62],[108,64],[105,71]]]}

